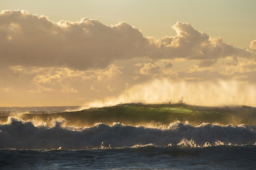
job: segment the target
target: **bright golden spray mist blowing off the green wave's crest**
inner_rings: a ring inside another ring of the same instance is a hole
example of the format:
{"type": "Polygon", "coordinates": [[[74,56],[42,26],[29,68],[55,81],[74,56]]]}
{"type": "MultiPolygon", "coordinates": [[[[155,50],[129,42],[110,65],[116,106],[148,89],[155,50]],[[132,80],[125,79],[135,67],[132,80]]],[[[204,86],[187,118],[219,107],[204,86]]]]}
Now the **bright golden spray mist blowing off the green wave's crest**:
{"type": "Polygon", "coordinates": [[[112,96],[84,104],[90,107],[114,106],[120,103],[179,103],[200,106],[246,105],[256,107],[256,85],[236,81],[184,82],[155,79],[112,96]]]}

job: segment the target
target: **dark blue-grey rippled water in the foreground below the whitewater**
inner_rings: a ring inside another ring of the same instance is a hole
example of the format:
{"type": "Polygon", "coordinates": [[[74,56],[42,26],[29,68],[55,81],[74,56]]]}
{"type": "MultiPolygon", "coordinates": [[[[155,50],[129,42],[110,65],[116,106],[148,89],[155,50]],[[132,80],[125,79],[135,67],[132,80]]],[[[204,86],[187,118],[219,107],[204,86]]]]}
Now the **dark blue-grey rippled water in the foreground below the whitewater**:
{"type": "Polygon", "coordinates": [[[255,146],[0,150],[4,169],[255,169],[255,146]]]}

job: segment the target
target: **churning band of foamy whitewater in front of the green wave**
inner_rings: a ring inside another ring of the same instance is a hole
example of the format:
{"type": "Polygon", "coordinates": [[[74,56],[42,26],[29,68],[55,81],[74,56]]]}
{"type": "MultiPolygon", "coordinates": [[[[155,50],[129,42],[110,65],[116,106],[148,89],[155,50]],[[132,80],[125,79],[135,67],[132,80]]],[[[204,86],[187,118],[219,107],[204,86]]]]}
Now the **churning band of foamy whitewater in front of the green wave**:
{"type": "Polygon", "coordinates": [[[208,147],[218,145],[255,145],[255,125],[220,126],[203,123],[193,126],[174,122],[167,128],[128,126],[121,123],[97,123],[92,127],[35,126],[9,118],[0,124],[0,149],[93,149],[141,146],[208,147]]]}

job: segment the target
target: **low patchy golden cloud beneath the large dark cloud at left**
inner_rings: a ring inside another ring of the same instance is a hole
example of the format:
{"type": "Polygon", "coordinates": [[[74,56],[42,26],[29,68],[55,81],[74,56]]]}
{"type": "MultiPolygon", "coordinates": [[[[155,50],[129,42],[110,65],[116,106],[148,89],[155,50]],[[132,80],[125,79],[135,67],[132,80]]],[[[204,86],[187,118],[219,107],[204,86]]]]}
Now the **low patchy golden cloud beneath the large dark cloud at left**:
{"type": "MultiPolygon", "coordinates": [[[[8,87],[8,84],[12,84],[16,86],[16,89],[20,87],[23,88],[22,90],[29,92],[56,91],[78,93],[84,90],[84,84],[86,84],[88,90],[94,90],[97,89],[94,83],[99,82],[99,84],[102,84],[99,80],[105,82],[113,81],[117,76],[123,74],[122,71],[118,70],[119,68],[114,64],[106,69],[87,71],[78,71],[72,68],[16,66],[9,70],[14,72],[15,75],[10,79],[2,79],[0,87],[2,86],[4,89],[4,87],[8,87]]],[[[102,84],[102,86],[104,85],[102,84]]],[[[9,90],[11,87],[9,86],[9,90]]]]}

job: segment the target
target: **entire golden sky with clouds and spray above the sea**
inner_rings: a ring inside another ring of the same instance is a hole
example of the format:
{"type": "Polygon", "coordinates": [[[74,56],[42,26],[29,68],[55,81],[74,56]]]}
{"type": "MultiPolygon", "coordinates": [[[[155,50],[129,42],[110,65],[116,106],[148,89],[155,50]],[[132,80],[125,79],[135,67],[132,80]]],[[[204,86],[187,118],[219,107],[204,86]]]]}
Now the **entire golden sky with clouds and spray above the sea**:
{"type": "Polygon", "coordinates": [[[0,0],[0,106],[255,106],[255,0],[0,0]]]}

